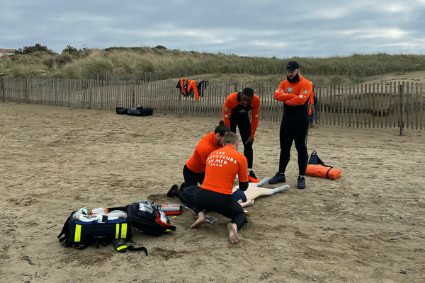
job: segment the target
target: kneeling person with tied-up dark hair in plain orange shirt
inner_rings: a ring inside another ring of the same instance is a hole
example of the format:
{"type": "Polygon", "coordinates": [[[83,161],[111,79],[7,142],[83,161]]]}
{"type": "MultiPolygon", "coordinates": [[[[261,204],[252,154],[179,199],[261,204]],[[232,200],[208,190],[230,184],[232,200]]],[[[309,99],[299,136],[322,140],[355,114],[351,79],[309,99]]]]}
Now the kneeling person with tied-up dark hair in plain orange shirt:
{"type": "MultiPolygon", "coordinates": [[[[229,127],[225,125],[224,121],[220,121],[220,124],[215,127],[214,132],[206,134],[196,145],[193,155],[183,167],[183,178],[184,183],[181,185],[180,190],[184,190],[184,187],[191,185],[202,185],[205,178],[205,164],[207,158],[212,151],[221,149],[223,146],[223,139],[225,133],[230,132],[229,127]]],[[[173,185],[167,195],[172,197],[172,191],[176,185],[173,185]]]]}

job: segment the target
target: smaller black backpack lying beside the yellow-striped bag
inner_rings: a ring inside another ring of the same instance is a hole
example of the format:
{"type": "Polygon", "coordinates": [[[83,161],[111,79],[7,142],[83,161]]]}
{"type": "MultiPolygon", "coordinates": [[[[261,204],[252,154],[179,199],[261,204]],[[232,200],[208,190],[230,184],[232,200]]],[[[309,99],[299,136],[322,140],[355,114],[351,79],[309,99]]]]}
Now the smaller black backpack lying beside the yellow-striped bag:
{"type": "Polygon", "coordinates": [[[135,229],[149,236],[161,236],[166,231],[176,231],[176,227],[170,225],[170,221],[161,211],[161,207],[147,200],[128,205],[127,217],[135,229]]]}

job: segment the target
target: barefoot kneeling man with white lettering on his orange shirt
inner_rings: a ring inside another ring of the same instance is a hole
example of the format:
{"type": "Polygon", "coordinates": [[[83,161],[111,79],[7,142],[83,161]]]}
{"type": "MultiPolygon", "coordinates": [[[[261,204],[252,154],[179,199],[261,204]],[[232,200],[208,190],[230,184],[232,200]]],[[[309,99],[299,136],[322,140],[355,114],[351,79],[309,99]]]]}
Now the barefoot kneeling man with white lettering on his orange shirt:
{"type": "Polygon", "coordinates": [[[205,223],[204,210],[217,212],[232,219],[227,224],[229,242],[239,243],[237,231],[246,223],[246,215],[239,202],[234,200],[232,190],[236,175],[239,177],[239,190],[245,191],[248,188],[248,163],[246,157],[237,151],[237,134],[225,134],[224,144],[225,147],[212,151],[208,156],[202,186],[186,187],[182,202],[198,214],[198,219],[191,228],[198,228],[205,223]]]}

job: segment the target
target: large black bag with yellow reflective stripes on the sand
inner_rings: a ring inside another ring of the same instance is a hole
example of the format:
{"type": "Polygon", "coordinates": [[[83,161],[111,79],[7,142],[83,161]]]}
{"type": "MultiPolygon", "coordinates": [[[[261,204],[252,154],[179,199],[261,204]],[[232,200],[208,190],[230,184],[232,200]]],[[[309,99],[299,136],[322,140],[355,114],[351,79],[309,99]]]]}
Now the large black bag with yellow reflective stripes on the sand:
{"type": "MultiPolygon", "coordinates": [[[[127,207],[112,207],[109,211],[126,213],[127,207]]],[[[57,236],[65,247],[83,250],[92,244],[96,244],[96,248],[99,248],[99,245],[108,246],[113,243],[115,250],[120,253],[125,253],[126,250],[144,250],[147,255],[145,247],[127,246],[126,242],[132,238],[132,226],[128,218],[108,219],[108,216],[99,216],[99,219],[82,221],[73,218],[75,212],[71,213],[57,236]]]]}

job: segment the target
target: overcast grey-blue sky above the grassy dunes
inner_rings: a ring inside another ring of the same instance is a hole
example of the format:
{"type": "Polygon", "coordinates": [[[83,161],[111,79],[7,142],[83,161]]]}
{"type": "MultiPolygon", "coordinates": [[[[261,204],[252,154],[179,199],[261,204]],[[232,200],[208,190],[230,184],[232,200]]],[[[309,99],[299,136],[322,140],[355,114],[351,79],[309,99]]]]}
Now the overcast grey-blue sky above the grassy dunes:
{"type": "Polygon", "coordinates": [[[0,0],[0,48],[155,47],[249,57],[425,54],[425,0],[0,0]]]}

